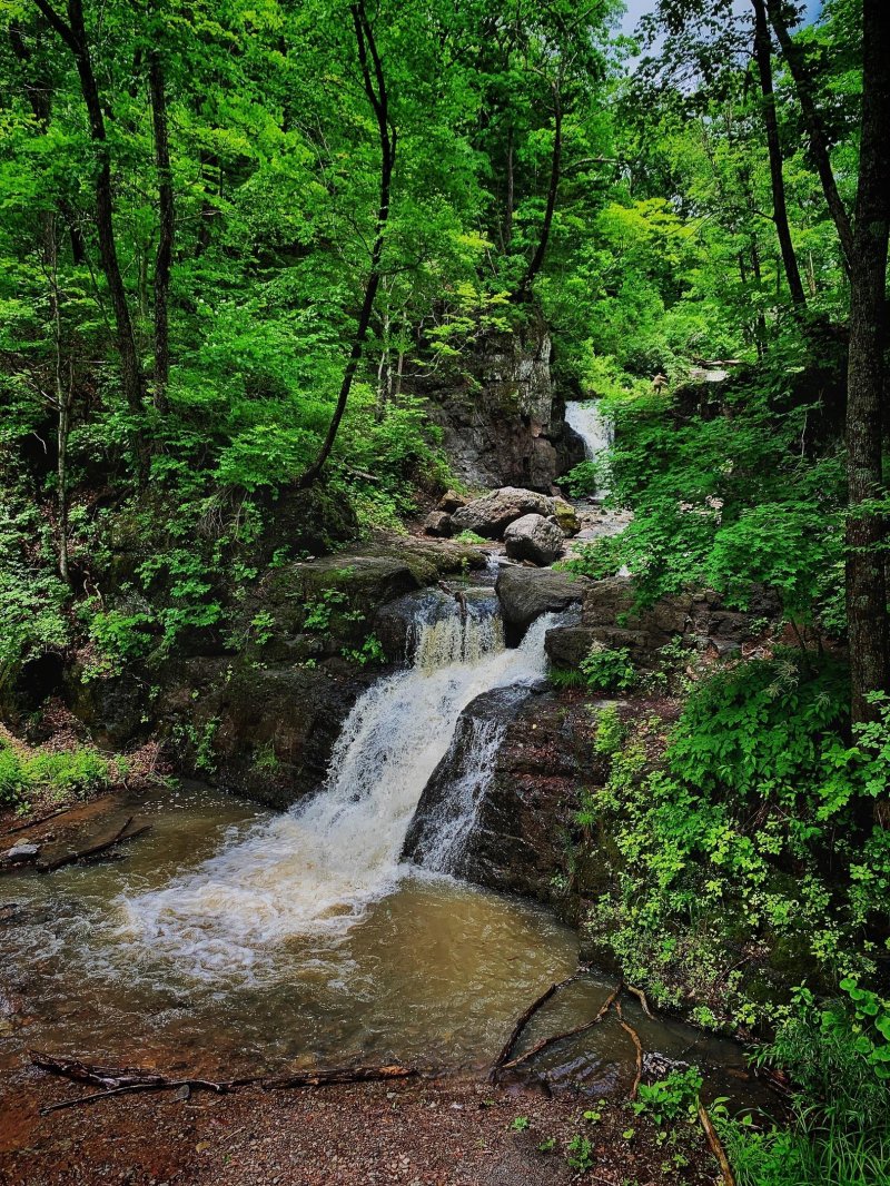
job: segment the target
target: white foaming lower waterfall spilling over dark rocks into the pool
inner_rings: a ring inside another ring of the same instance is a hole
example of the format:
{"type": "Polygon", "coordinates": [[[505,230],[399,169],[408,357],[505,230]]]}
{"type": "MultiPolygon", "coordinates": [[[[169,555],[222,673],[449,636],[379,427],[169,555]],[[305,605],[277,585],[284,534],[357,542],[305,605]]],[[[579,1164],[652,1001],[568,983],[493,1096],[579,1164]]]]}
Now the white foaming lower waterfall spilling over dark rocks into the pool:
{"type": "MultiPolygon", "coordinates": [[[[456,604],[446,618],[419,624],[412,665],[380,680],[352,708],[322,791],[254,825],[193,873],[125,898],[131,937],[212,978],[259,975],[259,951],[269,944],[345,935],[418,872],[400,860],[405,836],[460,712],[482,693],[545,674],[553,617],[539,618],[515,649],[504,646],[500,618],[478,608],[456,604]]],[[[425,860],[430,869],[447,869],[449,853],[472,827],[500,733],[491,728],[478,740],[445,834],[425,860]]]]}

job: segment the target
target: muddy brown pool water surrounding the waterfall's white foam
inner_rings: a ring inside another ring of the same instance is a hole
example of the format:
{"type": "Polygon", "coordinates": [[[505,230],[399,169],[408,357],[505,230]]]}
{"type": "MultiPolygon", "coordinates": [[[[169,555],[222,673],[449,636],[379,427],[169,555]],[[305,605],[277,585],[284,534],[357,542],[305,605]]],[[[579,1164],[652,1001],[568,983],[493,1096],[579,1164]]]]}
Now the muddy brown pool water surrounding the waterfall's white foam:
{"type": "MultiPolygon", "coordinates": [[[[123,805],[152,829],[119,859],[0,884],[7,1069],[37,1047],[223,1077],[393,1060],[482,1071],[529,1002],[577,967],[576,935],[547,911],[411,867],[339,933],[258,939],[254,964],[241,949],[230,965],[209,964],[201,936],[190,951],[134,931],[132,904],[187,884],[269,817],[199,786],[123,805]]],[[[520,1051],[589,1020],[611,987],[596,975],[574,982],[536,1015],[520,1051]]],[[[651,1021],[634,1001],[624,1012],[650,1056],[697,1063],[711,1095],[758,1102],[733,1078],[744,1071],[733,1042],[651,1021]]],[[[627,1089],[632,1060],[610,1018],[534,1067],[557,1089],[596,1096],[627,1089]]]]}

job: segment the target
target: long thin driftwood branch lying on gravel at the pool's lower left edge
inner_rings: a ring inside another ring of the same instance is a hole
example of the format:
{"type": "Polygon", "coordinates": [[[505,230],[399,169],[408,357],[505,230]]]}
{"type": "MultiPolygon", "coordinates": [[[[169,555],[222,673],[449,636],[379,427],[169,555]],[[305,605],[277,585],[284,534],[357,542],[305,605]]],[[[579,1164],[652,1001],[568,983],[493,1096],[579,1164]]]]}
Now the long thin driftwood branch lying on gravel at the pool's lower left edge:
{"type": "Polygon", "coordinates": [[[76,1099],[64,1099],[40,1110],[42,1116],[64,1108],[77,1108],[97,1099],[108,1099],[134,1091],[177,1091],[186,1088],[189,1091],[211,1091],[215,1095],[229,1095],[239,1088],[260,1086],[263,1091],[276,1091],[293,1088],[319,1088],[333,1083],[371,1083],[379,1079],[407,1079],[417,1075],[413,1066],[392,1064],[389,1066],[332,1066],[316,1071],[298,1071],[280,1077],[252,1076],[240,1079],[198,1079],[187,1076],[171,1077],[154,1071],[142,1071],[138,1067],[97,1066],[82,1063],[76,1058],[62,1054],[45,1054],[31,1051],[31,1061],[49,1075],[58,1075],[75,1083],[85,1083],[102,1088],[91,1096],[78,1096],[76,1099]]]}

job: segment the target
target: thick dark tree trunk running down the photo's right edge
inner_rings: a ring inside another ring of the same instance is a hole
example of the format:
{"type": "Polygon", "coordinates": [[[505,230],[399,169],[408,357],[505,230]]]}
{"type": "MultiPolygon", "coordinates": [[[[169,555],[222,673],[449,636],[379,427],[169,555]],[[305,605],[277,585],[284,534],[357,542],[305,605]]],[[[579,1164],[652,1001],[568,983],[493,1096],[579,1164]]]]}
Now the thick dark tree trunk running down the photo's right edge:
{"type": "Polygon", "coordinates": [[[883,517],[867,504],[883,495],[882,409],[890,228],[890,8],[863,5],[863,113],[850,285],[847,368],[846,601],[852,715],[877,715],[867,694],[890,690],[883,517]]]}

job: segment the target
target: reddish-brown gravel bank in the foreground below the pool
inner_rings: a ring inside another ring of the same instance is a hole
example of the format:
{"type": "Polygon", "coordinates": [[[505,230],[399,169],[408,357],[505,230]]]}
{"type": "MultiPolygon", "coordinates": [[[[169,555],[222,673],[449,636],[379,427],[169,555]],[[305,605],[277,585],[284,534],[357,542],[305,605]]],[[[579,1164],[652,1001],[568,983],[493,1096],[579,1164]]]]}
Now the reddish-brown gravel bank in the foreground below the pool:
{"type": "Polygon", "coordinates": [[[660,1136],[624,1101],[548,1099],[477,1079],[152,1092],[40,1116],[94,1091],[30,1067],[6,1077],[4,1186],[703,1186],[718,1175],[698,1127],[660,1136]],[[584,1173],[566,1161],[579,1134],[590,1142],[584,1173]]]}

